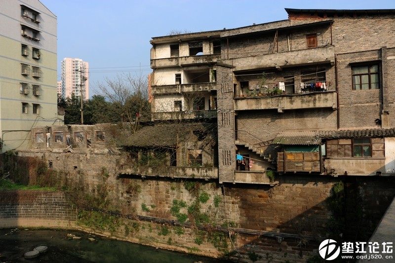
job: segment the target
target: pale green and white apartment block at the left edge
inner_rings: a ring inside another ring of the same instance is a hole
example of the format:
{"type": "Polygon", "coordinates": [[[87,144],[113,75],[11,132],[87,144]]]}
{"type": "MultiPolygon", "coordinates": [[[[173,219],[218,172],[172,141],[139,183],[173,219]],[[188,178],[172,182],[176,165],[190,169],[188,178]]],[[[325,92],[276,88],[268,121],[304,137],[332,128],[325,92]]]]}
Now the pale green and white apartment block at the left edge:
{"type": "Polygon", "coordinates": [[[0,0],[0,25],[0,152],[29,149],[33,127],[63,123],[56,94],[57,17],[39,0],[0,0]]]}

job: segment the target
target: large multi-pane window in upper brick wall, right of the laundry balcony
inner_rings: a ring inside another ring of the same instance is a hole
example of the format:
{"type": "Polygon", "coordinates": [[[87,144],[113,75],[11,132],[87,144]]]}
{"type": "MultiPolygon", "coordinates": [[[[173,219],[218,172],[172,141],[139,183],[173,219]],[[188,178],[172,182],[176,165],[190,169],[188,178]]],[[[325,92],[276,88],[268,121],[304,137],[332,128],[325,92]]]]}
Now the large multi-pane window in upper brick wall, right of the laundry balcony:
{"type": "Polygon", "coordinates": [[[367,65],[352,67],[353,90],[378,89],[379,83],[379,66],[367,65]]]}

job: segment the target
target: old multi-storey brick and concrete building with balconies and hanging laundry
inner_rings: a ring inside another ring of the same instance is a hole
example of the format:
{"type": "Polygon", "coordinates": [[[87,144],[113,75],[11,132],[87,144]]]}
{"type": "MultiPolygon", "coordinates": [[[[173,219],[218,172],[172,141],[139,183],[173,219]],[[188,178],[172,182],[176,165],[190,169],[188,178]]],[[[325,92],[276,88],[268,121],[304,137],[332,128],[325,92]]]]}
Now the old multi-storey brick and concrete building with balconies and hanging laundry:
{"type": "Polygon", "coordinates": [[[286,12],[153,38],[153,120],[217,117],[220,183],[394,174],[394,10],[286,12]]]}

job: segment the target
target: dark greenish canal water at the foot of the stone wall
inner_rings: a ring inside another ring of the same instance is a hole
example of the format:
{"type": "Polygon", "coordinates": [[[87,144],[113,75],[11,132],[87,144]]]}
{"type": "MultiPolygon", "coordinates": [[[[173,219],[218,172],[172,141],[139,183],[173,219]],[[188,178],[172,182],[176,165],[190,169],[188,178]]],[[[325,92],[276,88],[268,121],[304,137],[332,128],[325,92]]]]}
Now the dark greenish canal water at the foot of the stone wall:
{"type": "Polygon", "coordinates": [[[0,229],[0,263],[17,262],[231,263],[112,240],[80,231],[0,229]],[[46,247],[47,251],[40,253],[37,258],[25,259],[25,253],[38,247],[46,247]]]}

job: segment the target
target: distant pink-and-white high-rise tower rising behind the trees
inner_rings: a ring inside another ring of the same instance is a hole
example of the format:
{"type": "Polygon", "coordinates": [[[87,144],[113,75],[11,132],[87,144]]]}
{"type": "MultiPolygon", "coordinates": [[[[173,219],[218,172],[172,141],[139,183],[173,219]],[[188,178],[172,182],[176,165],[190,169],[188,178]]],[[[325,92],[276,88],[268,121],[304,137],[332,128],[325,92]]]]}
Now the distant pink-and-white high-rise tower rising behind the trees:
{"type": "Polygon", "coordinates": [[[61,94],[63,98],[74,93],[87,100],[89,98],[89,63],[79,58],[64,58],[62,61],[61,94]]]}

